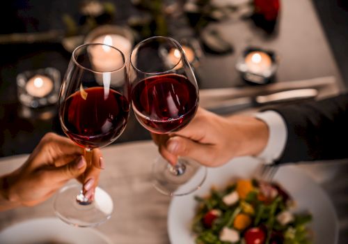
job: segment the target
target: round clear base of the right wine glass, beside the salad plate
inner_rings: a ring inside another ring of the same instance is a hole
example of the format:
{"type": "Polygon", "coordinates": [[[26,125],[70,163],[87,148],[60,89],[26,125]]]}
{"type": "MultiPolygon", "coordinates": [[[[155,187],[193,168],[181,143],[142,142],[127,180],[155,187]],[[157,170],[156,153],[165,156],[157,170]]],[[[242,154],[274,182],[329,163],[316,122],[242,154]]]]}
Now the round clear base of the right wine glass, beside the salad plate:
{"type": "Polygon", "coordinates": [[[207,168],[189,158],[179,158],[186,167],[183,174],[175,174],[171,165],[159,157],[152,165],[152,185],[164,195],[171,197],[188,195],[198,190],[207,177],[207,168]]]}

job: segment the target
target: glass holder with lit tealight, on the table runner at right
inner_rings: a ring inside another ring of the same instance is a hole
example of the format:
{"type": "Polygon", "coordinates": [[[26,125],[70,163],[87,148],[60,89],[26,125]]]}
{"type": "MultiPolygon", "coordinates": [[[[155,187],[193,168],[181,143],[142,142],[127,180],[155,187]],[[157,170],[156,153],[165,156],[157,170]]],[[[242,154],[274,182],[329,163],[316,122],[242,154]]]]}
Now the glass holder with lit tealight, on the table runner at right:
{"type": "Polygon", "coordinates": [[[273,51],[248,47],[237,60],[236,68],[251,84],[268,84],[278,69],[278,56],[273,51]]]}

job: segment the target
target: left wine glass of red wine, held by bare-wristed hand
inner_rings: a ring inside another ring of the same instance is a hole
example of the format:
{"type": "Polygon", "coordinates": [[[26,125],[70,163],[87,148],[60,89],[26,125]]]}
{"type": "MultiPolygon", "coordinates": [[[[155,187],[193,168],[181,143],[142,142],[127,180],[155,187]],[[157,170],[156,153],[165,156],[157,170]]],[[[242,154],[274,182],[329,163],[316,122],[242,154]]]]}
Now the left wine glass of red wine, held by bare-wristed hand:
{"type": "MultiPolygon", "coordinates": [[[[86,44],[74,49],[59,94],[61,126],[85,149],[87,166],[93,148],[115,141],[129,116],[129,79],[125,55],[116,47],[86,44]]],[[[93,227],[111,217],[113,202],[101,188],[95,199],[84,196],[81,185],[68,185],[56,195],[54,210],[61,220],[93,227]]]]}

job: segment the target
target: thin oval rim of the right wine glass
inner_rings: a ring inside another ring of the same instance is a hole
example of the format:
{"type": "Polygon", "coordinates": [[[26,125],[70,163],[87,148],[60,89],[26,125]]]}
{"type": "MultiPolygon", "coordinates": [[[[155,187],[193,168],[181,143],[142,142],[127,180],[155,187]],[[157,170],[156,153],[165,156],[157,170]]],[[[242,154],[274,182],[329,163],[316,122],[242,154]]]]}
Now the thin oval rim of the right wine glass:
{"type": "MultiPolygon", "coordinates": [[[[184,55],[184,51],[183,51],[183,49],[182,49],[182,46],[180,45],[180,43],[177,41],[177,40],[175,40],[174,38],[171,38],[171,37],[168,37],[168,36],[152,36],[152,37],[150,37],[150,38],[146,38],[145,40],[142,40],[140,43],[138,43],[138,44],[136,44],[135,46],[134,46],[134,48],[132,49],[132,52],[131,52],[131,54],[130,54],[130,57],[129,57],[129,59],[130,59],[130,64],[131,64],[131,66],[136,70],[136,71],[138,71],[138,72],[141,72],[141,73],[143,73],[143,74],[145,74],[145,75],[164,75],[164,74],[166,74],[166,73],[169,73],[169,72],[171,72],[171,71],[175,71],[176,69],[175,69],[175,67],[177,67],[179,64],[180,64],[180,61],[182,61],[182,59],[184,59],[184,57],[185,57],[185,55],[184,55]],[[145,71],[143,71],[143,70],[140,70],[139,68],[137,68],[136,66],[134,66],[134,64],[133,64],[133,62],[132,62],[132,55],[133,55],[133,52],[134,52],[134,50],[136,50],[136,49],[138,49],[139,47],[140,47],[140,45],[143,45],[143,43],[147,43],[148,41],[150,41],[150,40],[152,40],[152,39],[169,39],[169,40],[171,40],[173,43],[175,43],[175,45],[177,45],[177,47],[180,47],[180,59],[177,61],[177,63],[175,63],[175,65],[172,67],[172,68],[170,68],[170,69],[168,69],[168,70],[165,70],[165,71],[161,71],[161,72],[145,72],[145,71]]],[[[182,66],[182,67],[184,67],[184,66],[182,66]]]]}

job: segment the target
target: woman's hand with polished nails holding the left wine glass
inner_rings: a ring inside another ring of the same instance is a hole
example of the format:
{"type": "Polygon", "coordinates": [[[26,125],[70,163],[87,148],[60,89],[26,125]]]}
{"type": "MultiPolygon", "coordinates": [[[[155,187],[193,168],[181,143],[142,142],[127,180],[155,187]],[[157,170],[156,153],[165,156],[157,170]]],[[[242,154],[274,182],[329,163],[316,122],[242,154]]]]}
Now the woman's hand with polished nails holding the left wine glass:
{"type": "Polygon", "coordinates": [[[48,133],[22,167],[1,177],[0,210],[39,204],[72,178],[84,183],[86,197],[93,199],[102,168],[100,150],[93,150],[92,164],[87,167],[83,148],[68,138],[48,133]]]}

